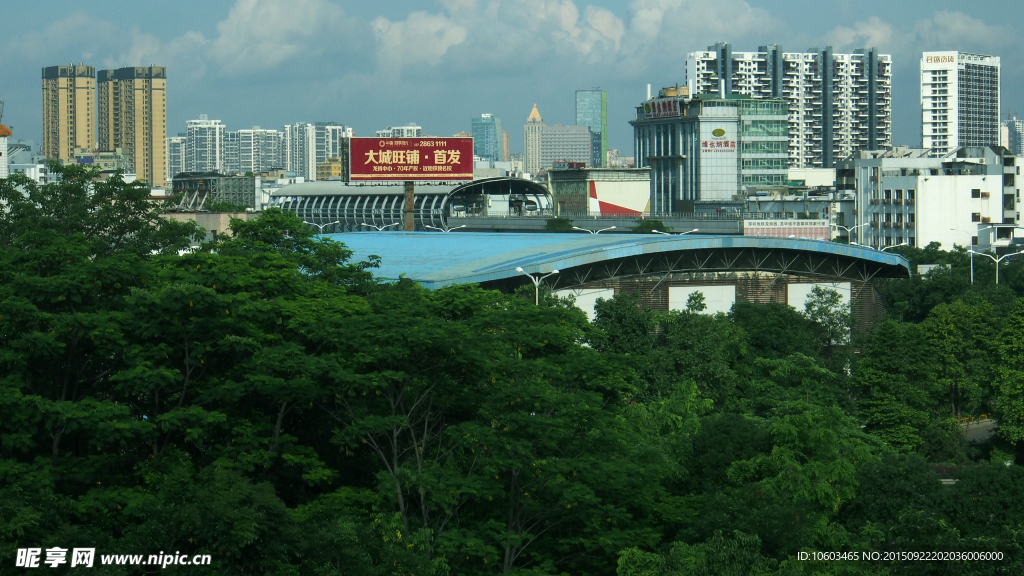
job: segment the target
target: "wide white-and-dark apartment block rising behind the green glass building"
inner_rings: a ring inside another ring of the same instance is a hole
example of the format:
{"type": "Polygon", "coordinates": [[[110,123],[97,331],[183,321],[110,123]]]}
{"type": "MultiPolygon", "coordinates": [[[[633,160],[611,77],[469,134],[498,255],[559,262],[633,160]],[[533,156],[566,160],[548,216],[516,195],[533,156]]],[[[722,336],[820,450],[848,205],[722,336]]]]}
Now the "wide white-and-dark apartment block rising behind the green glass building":
{"type": "Polygon", "coordinates": [[[830,168],[856,151],[892,146],[892,56],[874,48],[733,52],[720,42],[687,56],[686,83],[693,95],[784,99],[795,168],[830,168]]]}

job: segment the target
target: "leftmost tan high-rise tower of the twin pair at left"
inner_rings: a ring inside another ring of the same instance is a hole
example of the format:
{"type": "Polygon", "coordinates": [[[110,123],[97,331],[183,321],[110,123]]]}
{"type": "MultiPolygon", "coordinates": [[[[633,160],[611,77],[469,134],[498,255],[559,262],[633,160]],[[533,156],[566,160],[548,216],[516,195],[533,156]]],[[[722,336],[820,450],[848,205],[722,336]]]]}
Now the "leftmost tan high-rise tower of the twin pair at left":
{"type": "Polygon", "coordinates": [[[95,68],[80,64],[43,69],[43,156],[68,161],[76,148],[95,148],[95,68]]]}

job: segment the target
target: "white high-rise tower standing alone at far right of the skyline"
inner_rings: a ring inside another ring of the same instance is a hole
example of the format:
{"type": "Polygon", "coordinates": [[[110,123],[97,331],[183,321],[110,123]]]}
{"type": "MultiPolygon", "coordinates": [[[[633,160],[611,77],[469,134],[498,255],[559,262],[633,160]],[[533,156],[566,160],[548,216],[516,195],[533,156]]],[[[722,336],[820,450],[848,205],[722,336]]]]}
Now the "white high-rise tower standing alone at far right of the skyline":
{"type": "Polygon", "coordinates": [[[934,153],[999,143],[999,56],[921,56],[921,139],[934,153]]]}

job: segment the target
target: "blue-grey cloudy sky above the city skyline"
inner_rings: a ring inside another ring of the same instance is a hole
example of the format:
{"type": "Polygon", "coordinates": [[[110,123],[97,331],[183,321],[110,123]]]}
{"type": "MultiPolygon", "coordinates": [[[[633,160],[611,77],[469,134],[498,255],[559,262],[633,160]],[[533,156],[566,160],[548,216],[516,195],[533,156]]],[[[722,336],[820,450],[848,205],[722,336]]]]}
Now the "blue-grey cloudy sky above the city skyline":
{"type": "Polygon", "coordinates": [[[683,82],[687,52],[876,46],[894,57],[894,140],[920,143],[924,50],[1002,58],[1004,116],[1021,107],[1019,5],[946,0],[45,0],[8,2],[0,39],[3,122],[42,131],[40,69],[166,66],[168,133],[199,114],[230,129],[333,120],[372,134],[417,122],[451,135],[481,113],[512,151],[534,102],[572,124],[573,91],[608,92],[608,143],[632,153],[647,83],[683,82]],[[168,6],[173,5],[173,8],[168,6]],[[14,26],[11,26],[14,25],[14,26]]]}

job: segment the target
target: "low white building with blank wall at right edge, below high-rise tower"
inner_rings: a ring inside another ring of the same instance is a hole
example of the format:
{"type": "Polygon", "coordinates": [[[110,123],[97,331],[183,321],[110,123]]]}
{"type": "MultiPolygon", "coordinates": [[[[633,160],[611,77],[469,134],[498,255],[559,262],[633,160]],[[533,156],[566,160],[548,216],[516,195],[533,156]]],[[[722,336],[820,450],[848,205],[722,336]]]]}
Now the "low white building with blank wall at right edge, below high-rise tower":
{"type": "Polygon", "coordinates": [[[842,225],[857,227],[851,238],[874,248],[1005,251],[1020,222],[1022,163],[999,147],[859,153],[836,168],[837,187],[856,192],[854,221],[842,225]]]}

